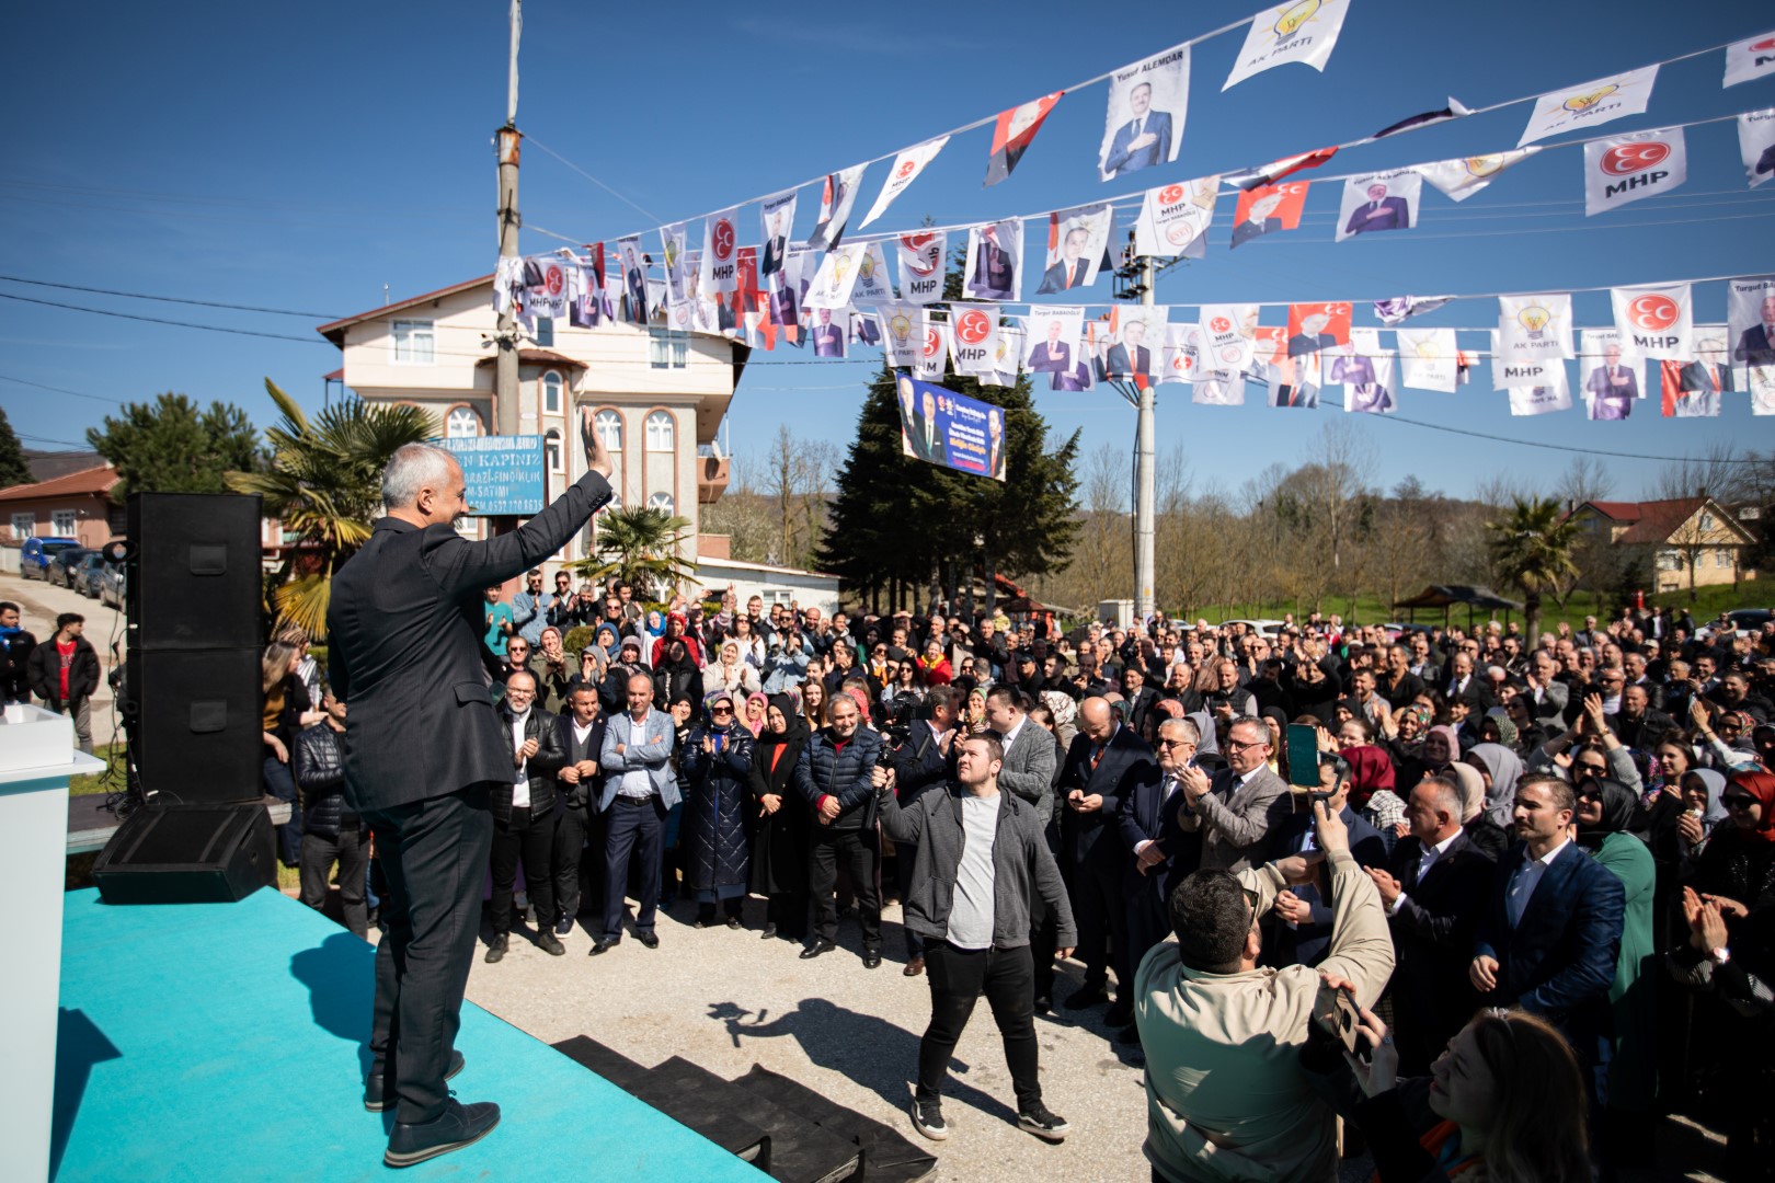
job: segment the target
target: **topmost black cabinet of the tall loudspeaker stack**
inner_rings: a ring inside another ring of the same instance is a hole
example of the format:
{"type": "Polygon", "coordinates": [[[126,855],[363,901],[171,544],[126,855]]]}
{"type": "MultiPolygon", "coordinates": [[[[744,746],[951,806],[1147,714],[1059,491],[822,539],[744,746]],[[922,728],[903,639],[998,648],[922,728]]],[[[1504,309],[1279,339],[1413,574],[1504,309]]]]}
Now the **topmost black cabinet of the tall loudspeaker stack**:
{"type": "Polygon", "coordinates": [[[259,498],[131,493],[130,649],[261,644],[259,498]]]}

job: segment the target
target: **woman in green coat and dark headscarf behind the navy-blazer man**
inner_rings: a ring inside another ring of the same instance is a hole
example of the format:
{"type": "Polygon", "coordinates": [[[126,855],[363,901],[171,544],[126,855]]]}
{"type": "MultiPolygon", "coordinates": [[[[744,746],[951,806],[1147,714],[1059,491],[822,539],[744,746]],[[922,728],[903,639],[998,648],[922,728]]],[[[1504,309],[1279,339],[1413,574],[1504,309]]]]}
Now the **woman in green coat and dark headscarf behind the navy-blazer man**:
{"type": "MultiPolygon", "coordinates": [[[[1487,747],[1487,745],[1479,745],[1487,747]]],[[[1473,748],[1475,752],[1479,748],[1473,748]]],[[[1617,1160],[1651,1155],[1653,1096],[1658,1082],[1658,975],[1647,972],[1653,940],[1656,869],[1653,855],[1631,834],[1638,798],[1619,780],[1585,779],[1578,786],[1578,844],[1621,880],[1626,919],[1608,1006],[1615,1020],[1615,1055],[1608,1066],[1606,1146],[1617,1160]]]]}

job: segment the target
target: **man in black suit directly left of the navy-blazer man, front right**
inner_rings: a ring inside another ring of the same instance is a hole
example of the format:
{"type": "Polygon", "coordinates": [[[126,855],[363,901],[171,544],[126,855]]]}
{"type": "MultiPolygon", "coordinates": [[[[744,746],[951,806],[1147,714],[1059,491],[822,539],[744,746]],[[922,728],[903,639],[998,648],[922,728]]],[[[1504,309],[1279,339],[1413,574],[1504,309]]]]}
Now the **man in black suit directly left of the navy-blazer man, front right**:
{"type": "Polygon", "coordinates": [[[1393,1034],[1400,1071],[1425,1075],[1479,1009],[1466,975],[1495,864],[1461,828],[1461,789],[1425,777],[1406,802],[1411,837],[1369,869],[1393,931],[1393,1034]]]}

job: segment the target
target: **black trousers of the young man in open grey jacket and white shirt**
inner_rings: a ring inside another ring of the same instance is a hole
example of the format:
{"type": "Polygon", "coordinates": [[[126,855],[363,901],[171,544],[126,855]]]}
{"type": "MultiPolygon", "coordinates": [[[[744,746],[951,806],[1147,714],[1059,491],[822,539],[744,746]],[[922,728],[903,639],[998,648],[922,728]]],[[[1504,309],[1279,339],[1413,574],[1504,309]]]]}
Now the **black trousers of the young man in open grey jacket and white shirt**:
{"type": "Polygon", "coordinates": [[[918,1098],[934,1101],[943,1096],[955,1043],[985,991],[992,1022],[1005,1039],[1005,1064],[1017,1091],[1017,1110],[1024,1112],[1040,1101],[1030,947],[957,949],[946,940],[932,940],[925,945],[925,975],[930,979],[930,1027],[918,1043],[918,1098]]]}

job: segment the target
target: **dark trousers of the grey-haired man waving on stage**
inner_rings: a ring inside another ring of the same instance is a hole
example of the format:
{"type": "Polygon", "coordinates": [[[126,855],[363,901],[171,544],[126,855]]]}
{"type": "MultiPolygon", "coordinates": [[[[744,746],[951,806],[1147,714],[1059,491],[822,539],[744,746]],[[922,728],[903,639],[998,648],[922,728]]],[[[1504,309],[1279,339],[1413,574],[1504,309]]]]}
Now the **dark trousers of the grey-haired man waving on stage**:
{"type": "Polygon", "coordinates": [[[382,1073],[394,1119],[444,1112],[444,1073],[481,928],[481,878],[493,844],[486,784],[366,812],[389,878],[376,945],[371,1077],[382,1073]]]}

